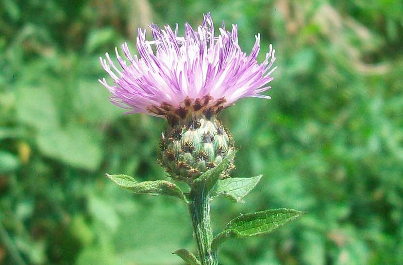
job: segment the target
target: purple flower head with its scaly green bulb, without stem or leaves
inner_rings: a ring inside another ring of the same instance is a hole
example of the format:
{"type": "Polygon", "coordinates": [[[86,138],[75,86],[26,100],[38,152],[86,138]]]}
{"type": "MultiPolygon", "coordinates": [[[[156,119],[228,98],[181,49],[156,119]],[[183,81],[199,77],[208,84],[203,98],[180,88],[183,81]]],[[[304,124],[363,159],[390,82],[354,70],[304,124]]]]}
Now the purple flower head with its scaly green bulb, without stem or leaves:
{"type": "MultiPolygon", "coordinates": [[[[214,32],[210,14],[194,30],[185,23],[185,36],[178,36],[169,26],[165,30],[150,26],[153,40],[138,29],[137,55],[132,56],[126,43],[121,48],[130,64],[118,54],[121,69],[108,53],[101,59],[103,69],[115,85],[100,80],[111,93],[111,102],[128,109],[126,113],[145,112],[166,117],[168,126],[162,133],[158,161],[171,177],[193,179],[217,165],[234,151],[231,133],[217,114],[244,97],[270,97],[261,93],[275,70],[274,50],[269,46],[266,59],[259,64],[260,35],[249,56],[238,45],[237,25],[229,32],[222,24],[214,32]],[[155,47],[154,53],[152,47],[155,47]]],[[[231,163],[222,177],[233,168],[231,163]]]]}

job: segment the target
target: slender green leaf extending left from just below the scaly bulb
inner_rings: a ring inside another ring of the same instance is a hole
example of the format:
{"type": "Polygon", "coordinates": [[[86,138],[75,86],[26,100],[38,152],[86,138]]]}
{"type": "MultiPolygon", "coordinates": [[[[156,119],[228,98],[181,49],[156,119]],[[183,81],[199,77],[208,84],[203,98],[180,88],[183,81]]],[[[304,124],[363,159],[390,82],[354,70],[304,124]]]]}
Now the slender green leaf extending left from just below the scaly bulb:
{"type": "Polygon", "coordinates": [[[169,195],[178,197],[186,202],[185,195],[181,189],[175,184],[166,180],[137,182],[133,177],[123,174],[106,174],[106,177],[115,182],[119,187],[125,188],[136,194],[169,195]]]}

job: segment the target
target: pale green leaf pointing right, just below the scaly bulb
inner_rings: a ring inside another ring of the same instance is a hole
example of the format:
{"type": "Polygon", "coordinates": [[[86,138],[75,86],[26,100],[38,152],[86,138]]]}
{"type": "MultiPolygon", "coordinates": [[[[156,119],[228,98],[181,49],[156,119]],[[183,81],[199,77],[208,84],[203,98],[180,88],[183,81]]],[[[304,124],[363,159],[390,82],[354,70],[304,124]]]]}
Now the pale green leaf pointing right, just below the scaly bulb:
{"type": "Polygon", "coordinates": [[[218,180],[214,186],[210,198],[224,195],[235,202],[242,202],[242,199],[256,187],[263,175],[256,177],[230,177],[218,180]]]}

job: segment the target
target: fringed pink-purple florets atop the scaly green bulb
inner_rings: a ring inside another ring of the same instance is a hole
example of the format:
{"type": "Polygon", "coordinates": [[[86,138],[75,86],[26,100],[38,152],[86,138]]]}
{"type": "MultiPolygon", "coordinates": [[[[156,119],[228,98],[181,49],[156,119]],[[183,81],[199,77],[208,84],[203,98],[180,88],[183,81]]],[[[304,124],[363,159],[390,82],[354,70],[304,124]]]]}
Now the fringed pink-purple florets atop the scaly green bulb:
{"type": "Polygon", "coordinates": [[[107,60],[100,58],[115,85],[109,86],[105,78],[99,81],[109,89],[113,104],[130,110],[126,113],[167,116],[178,109],[197,111],[207,106],[220,110],[244,97],[270,98],[260,93],[269,89],[264,86],[273,80],[274,50],[270,45],[266,59],[257,62],[260,34],[247,56],[238,45],[237,25],[229,32],[223,23],[216,36],[210,14],[197,30],[185,23],[185,36],[178,36],[178,25],[175,31],[155,24],[150,28],[152,41],[146,40],[145,30],[138,29],[139,57],[132,56],[124,43],[121,48],[129,63],[119,56],[118,49],[120,68],[108,53],[107,60]]]}

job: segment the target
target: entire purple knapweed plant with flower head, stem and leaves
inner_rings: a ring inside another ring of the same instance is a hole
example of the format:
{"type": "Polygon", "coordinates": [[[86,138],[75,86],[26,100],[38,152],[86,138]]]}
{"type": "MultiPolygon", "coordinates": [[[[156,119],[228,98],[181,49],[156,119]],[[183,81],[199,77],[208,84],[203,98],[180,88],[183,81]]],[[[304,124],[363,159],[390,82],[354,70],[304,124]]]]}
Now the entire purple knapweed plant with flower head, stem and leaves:
{"type": "Polygon", "coordinates": [[[173,181],[137,182],[122,174],[106,176],[134,193],[170,195],[186,203],[198,257],[185,248],[172,253],[192,265],[218,265],[218,247],[227,239],[268,234],[303,213],[282,208],[241,214],[213,236],[211,200],[225,195],[242,201],[262,177],[227,178],[234,168],[236,150],[231,133],[217,114],[243,97],[269,98],[261,92],[269,89],[264,86],[273,79],[271,66],[275,60],[270,45],[264,62],[257,62],[260,35],[247,56],[238,45],[236,25],[231,32],[224,25],[219,31],[216,37],[210,14],[197,30],[186,23],[185,37],[178,36],[178,27],[172,31],[169,26],[160,30],[151,25],[153,41],[147,41],[146,32],[139,29],[139,58],[132,57],[127,45],[122,45],[129,65],[118,52],[121,70],[107,53],[109,64],[101,59],[115,85],[109,86],[105,79],[100,82],[111,92],[114,104],[129,109],[127,113],[145,112],[167,118],[158,162],[170,177],[186,182],[189,189],[184,193],[173,181]]]}

